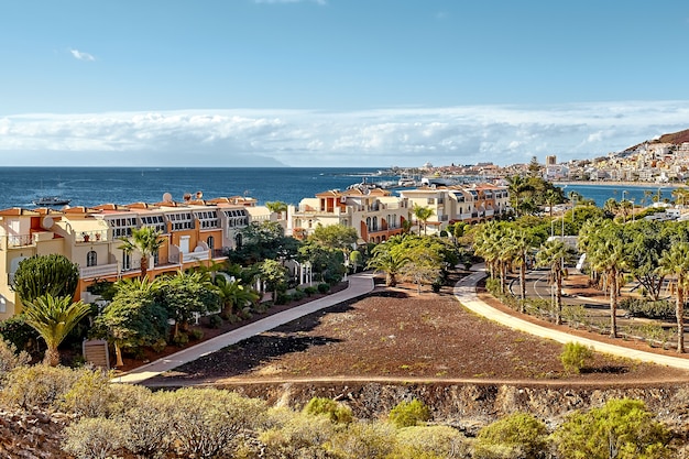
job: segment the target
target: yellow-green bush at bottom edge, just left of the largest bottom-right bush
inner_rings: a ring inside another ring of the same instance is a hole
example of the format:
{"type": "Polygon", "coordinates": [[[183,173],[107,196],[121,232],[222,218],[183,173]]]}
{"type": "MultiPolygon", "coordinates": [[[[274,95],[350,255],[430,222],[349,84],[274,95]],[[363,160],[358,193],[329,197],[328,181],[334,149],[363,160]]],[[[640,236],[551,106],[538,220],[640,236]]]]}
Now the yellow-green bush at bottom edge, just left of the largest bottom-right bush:
{"type": "Polygon", "coordinates": [[[531,414],[514,413],[479,430],[477,459],[536,459],[546,457],[546,425],[531,414]]]}

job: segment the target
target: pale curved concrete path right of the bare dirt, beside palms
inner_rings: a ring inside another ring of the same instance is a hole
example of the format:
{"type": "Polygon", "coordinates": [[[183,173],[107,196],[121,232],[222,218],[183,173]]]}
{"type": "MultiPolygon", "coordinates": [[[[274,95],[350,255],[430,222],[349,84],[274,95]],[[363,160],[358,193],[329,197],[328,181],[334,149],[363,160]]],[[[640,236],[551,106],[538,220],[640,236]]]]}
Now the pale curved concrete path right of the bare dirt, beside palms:
{"type": "Polygon", "coordinates": [[[689,359],[638,351],[635,349],[625,348],[623,346],[609,345],[606,342],[601,342],[589,338],[581,338],[564,331],[542,327],[539,325],[523,320],[518,317],[505,314],[502,310],[492,308],[485,302],[479,299],[479,295],[477,294],[475,289],[477,283],[485,277],[485,275],[486,274],[484,271],[477,271],[473,274],[459,281],[455,286],[455,296],[457,297],[457,299],[468,309],[474,312],[480,316],[483,316],[490,320],[496,321],[515,330],[525,331],[527,334],[551,339],[557,342],[580,342],[584,346],[592,346],[598,352],[604,352],[612,356],[639,360],[643,362],[652,362],[682,370],[689,370],[689,359]]]}

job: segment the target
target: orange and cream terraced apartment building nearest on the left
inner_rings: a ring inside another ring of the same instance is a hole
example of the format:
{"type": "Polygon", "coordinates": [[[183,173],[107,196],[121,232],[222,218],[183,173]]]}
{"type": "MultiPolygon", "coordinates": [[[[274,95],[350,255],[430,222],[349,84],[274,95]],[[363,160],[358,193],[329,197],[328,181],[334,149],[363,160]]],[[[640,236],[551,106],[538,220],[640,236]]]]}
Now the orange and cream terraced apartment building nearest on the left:
{"type": "Polygon", "coordinates": [[[223,251],[241,243],[240,230],[271,219],[251,198],[197,198],[183,203],[105,204],[0,210],[0,320],[21,312],[11,288],[19,263],[33,255],[63,254],[79,265],[77,298],[90,300],[87,287],[97,280],[117,281],[141,274],[141,254],[121,249],[134,228],[161,231],[162,245],[149,260],[151,278],[226,260],[223,251]]]}

